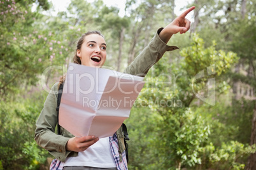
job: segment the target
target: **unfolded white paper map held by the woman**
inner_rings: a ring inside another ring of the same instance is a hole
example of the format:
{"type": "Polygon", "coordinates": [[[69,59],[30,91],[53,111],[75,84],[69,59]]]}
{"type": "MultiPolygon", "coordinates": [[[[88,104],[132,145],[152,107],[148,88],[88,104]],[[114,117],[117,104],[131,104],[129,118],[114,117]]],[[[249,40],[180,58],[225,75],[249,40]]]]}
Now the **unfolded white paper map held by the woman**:
{"type": "Polygon", "coordinates": [[[75,136],[113,136],[144,83],[143,77],[69,63],[59,124],[75,136]]]}

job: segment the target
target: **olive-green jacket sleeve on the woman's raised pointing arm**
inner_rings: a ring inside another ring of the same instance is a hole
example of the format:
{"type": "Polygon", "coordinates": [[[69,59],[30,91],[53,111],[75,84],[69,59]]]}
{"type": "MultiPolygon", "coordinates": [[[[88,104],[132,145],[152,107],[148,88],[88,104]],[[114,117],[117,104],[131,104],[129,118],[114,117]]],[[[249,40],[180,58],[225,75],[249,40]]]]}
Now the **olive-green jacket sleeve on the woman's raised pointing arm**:
{"type": "Polygon", "coordinates": [[[176,46],[168,46],[162,39],[160,39],[159,33],[162,29],[163,28],[157,30],[157,33],[148,46],[146,46],[146,48],[134,59],[131,65],[124,70],[125,73],[145,77],[148,70],[162,58],[166,51],[178,49],[176,46]]]}

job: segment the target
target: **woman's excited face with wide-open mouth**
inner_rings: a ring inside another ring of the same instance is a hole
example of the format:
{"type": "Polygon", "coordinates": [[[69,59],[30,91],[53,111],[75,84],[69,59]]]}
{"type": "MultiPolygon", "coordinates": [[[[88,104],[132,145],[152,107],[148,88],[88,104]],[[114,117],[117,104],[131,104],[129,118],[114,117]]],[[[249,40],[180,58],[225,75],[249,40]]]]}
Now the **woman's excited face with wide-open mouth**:
{"type": "Polygon", "coordinates": [[[106,61],[106,42],[99,34],[90,34],[85,37],[81,49],[76,51],[82,65],[102,67],[106,61]]]}

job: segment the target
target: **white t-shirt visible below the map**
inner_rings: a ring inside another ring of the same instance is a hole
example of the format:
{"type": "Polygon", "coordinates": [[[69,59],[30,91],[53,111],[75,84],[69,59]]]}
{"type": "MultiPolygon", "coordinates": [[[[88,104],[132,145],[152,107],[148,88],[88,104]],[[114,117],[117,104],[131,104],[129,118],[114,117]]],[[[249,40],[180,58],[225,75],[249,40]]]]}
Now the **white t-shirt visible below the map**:
{"type": "Polygon", "coordinates": [[[110,149],[108,137],[100,138],[77,157],[68,157],[64,166],[117,167],[110,149]]]}

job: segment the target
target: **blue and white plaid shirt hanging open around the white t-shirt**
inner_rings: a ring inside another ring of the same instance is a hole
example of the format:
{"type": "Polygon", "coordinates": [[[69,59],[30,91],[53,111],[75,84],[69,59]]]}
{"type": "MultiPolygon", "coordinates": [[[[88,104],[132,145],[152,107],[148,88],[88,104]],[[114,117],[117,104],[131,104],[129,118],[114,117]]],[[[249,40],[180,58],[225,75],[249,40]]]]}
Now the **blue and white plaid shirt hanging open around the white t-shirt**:
{"type": "MultiPolygon", "coordinates": [[[[117,166],[118,170],[127,170],[127,160],[125,151],[120,155],[118,152],[118,139],[117,134],[114,133],[113,136],[109,137],[110,141],[110,148],[111,153],[113,155],[113,158],[115,160],[115,164],[117,166]]],[[[53,159],[52,163],[50,165],[50,170],[62,170],[63,169],[64,162],[60,162],[59,159],[53,159]]]]}

